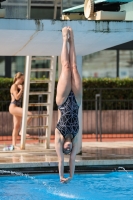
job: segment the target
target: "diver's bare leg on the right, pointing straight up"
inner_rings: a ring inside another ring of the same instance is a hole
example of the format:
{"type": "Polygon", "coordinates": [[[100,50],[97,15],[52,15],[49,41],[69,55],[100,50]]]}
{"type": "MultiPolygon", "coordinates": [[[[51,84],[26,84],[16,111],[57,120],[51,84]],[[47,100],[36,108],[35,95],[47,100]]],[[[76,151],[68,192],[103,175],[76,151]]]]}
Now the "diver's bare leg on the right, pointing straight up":
{"type": "Polygon", "coordinates": [[[70,60],[71,73],[72,73],[72,91],[74,92],[77,103],[80,105],[81,96],[82,96],[82,83],[81,83],[80,75],[77,70],[73,31],[70,27],[68,27],[68,29],[69,29],[69,36],[70,36],[69,60],[70,60]]]}

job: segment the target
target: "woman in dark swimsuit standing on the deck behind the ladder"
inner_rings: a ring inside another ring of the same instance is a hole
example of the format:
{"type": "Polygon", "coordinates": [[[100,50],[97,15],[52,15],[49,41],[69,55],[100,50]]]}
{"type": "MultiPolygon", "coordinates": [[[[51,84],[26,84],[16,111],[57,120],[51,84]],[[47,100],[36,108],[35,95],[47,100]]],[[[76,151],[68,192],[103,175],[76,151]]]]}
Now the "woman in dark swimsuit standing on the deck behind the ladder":
{"type": "MultiPolygon", "coordinates": [[[[13,132],[12,132],[12,145],[14,149],[20,149],[17,144],[17,136],[21,135],[21,121],[23,115],[23,109],[21,108],[22,95],[23,95],[23,84],[24,84],[24,75],[21,72],[18,72],[14,76],[13,85],[10,89],[11,94],[11,103],[9,106],[9,112],[13,115],[13,132]],[[20,131],[20,132],[19,132],[20,131]]],[[[31,112],[28,112],[28,116],[32,115],[31,112]]],[[[27,118],[27,124],[30,123],[32,117],[27,118]]],[[[29,136],[28,134],[26,134],[29,136]]]]}

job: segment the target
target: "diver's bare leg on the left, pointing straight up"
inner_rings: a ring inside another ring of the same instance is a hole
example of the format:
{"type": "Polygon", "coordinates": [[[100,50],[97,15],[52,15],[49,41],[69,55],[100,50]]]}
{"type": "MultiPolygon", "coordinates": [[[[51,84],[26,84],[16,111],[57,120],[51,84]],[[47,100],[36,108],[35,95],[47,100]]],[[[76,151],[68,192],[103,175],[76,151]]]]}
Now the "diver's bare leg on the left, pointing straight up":
{"type": "Polygon", "coordinates": [[[61,64],[62,71],[57,85],[57,96],[56,103],[61,105],[66,98],[68,97],[71,91],[71,68],[69,63],[69,54],[68,54],[68,28],[64,27],[62,29],[63,36],[63,45],[61,52],[61,64]]]}

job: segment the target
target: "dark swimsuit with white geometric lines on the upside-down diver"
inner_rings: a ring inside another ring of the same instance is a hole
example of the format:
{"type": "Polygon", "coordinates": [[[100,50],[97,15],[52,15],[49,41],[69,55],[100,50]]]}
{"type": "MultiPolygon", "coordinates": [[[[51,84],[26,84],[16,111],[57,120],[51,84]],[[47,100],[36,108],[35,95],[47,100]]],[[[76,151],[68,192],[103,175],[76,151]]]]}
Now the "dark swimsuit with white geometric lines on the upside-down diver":
{"type": "Polygon", "coordinates": [[[71,134],[74,138],[79,131],[79,106],[72,90],[66,101],[61,106],[58,106],[58,109],[61,112],[61,118],[57,123],[56,128],[60,131],[64,138],[68,134],[71,134]]]}

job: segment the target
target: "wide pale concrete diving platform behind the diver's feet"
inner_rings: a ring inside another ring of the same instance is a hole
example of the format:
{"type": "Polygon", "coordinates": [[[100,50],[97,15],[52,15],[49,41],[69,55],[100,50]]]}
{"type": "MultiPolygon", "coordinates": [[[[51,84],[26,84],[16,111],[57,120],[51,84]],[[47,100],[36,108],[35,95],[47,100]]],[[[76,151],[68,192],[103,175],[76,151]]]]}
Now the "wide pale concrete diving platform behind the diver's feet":
{"type": "Polygon", "coordinates": [[[80,56],[133,40],[132,21],[0,19],[0,55],[59,56],[64,26],[72,27],[80,56]]]}

